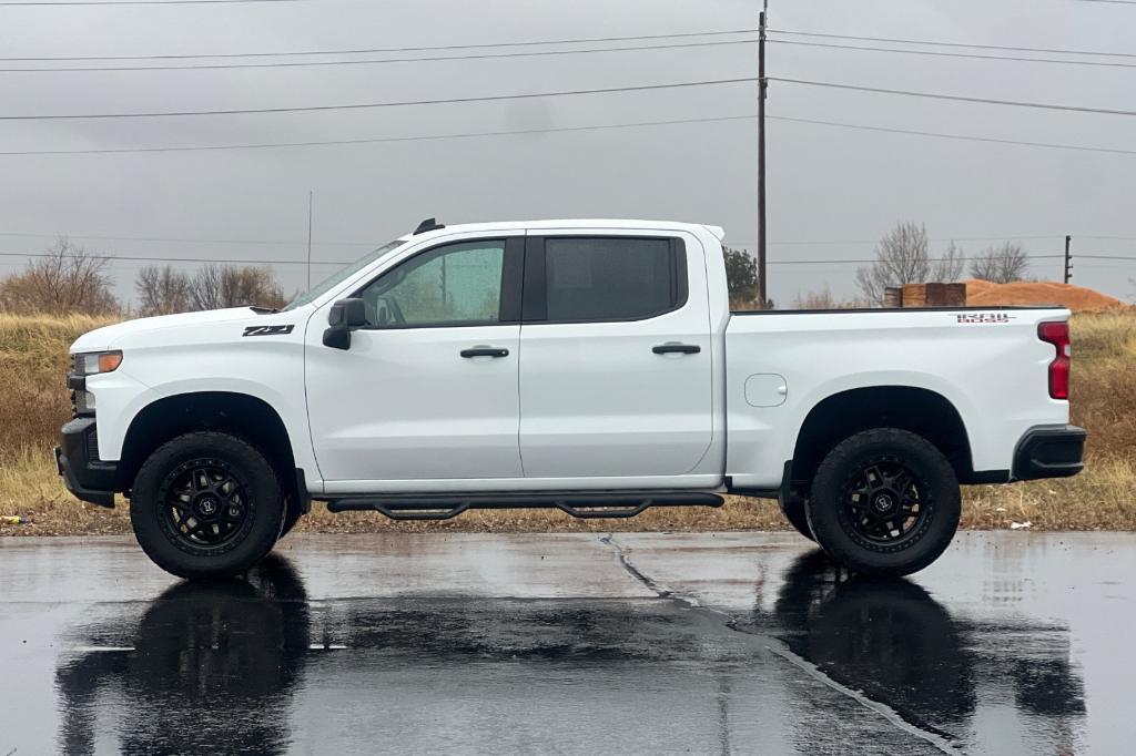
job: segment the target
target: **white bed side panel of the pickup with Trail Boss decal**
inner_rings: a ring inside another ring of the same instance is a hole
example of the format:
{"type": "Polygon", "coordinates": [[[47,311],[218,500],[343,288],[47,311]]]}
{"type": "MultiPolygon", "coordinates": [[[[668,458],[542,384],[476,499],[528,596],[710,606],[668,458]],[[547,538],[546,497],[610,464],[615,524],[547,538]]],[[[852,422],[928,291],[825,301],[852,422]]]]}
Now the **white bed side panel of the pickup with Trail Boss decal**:
{"type": "Polygon", "coordinates": [[[725,339],[727,474],[755,488],[776,484],[808,413],[868,387],[942,396],[968,426],[972,469],[1010,470],[1029,427],[1069,421],[1068,403],[1049,396],[1053,346],[1037,336],[1039,322],[1068,317],[1060,306],[733,313],[725,339]]]}

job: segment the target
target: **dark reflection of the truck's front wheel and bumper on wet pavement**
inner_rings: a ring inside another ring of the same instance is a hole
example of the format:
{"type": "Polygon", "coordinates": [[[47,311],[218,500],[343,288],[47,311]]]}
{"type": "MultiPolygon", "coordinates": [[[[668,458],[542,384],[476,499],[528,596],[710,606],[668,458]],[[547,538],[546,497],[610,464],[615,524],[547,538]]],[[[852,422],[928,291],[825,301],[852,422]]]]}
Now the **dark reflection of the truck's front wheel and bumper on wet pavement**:
{"type": "Polygon", "coordinates": [[[60,750],[94,750],[108,700],[120,702],[125,753],[284,750],[311,625],[303,582],[286,560],[269,555],[247,580],[178,583],[134,621],[78,631],[92,650],[57,673],[60,750]]]}

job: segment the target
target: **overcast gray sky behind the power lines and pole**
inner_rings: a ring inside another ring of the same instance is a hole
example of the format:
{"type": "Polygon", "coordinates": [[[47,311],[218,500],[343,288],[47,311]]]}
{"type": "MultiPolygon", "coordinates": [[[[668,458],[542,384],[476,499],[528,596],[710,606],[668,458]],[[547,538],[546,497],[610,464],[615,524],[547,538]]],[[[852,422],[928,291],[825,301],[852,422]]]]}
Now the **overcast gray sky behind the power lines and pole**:
{"type": "MultiPolygon", "coordinates": [[[[91,6],[97,1],[91,0],[91,6]]],[[[727,0],[91,6],[0,6],[2,56],[467,45],[742,30],[755,26],[758,15],[757,2],[727,0]]],[[[1136,5],[771,0],[771,30],[1136,53],[1131,34],[1136,5]]],[[[830,50],[783,42],[805,37],[772,36],[782,41],[769,44],[770,76],[1136,109],[1136,68],[830,50]]],[[[684,40],[654,43],[675,41],[684,40]]],[[[541,49],[590,47],[601,45],[541,49]]],[[[382,57],[258,58],[244,62],[382,57]]],[[[1136,66],[1136,58],[1088,59],[1136,66]]],[[[0,62],[2,68],[64,65],[131,64],[0,62]]],[[[755,67],[755,45],[722,44],[358,66],[0,72],[0,116],[450,99],[737,78],[753,76],[755,67]]],[[[737,83],[300,114],[0,120],[0,152],[360,140],[750,116],[755,112],[755,84],[737,83]]],[[[1136,150],[1136,118],[1125,116],[779,82],[770,85],[768,114],[1136,150]]],[[[952,238],[974,253],[1010,237],[1020,238],[1034,254],[1060,254],[1068,233],[1075,237],[1075,255],[1136,258],[1136,215],[1131,210],[1136,154],[954,141],[785,120],[769,121],[768,150],[769,293],[779,303],[787,304],[794,294],[826,285],[838,295],[851,295],[855,264],[793,261],[870,257],[872,240],[897,220],[926,222],[936,240],[935,252],[952,238]],[[1100,238],[1126,236],[1131,238],[1100,238]]],[[[724,226],[732,244],[754,250],[755,163],[755,121],[750,119],[334,146],[8,154],[0,156],[0,251],[40,251],[53,235],[68,234],[108,254],[302,261],[309,190],[316,198],[314,259],[321,263],[314,268],[315,279],[335,267],[328,261],[351,260],[368,244],[403,234],[427,216],[448,224],[557,217],[690,220],[724,226]],[[90,238],[100,236],[270,243],[90,238]]],[[[0,272],[17,270],[25,261],[2,258],[0,272]]],[[[120,295],[132,295],[140,264],[116,261],[111,266],[120,295]]],[[[302,264],[277,262],[274,268],[289,291],[303,286],[302,264]]],[[[1059,259],[1037,259],[1030,270],[1051,278],[1060,271],[1059,259]]],[[[1083,260],[1076,263],[1074,283],[1129,297],[1136,292],[1130,277],[1136,277],[1136,260],[1083,260]]]]}

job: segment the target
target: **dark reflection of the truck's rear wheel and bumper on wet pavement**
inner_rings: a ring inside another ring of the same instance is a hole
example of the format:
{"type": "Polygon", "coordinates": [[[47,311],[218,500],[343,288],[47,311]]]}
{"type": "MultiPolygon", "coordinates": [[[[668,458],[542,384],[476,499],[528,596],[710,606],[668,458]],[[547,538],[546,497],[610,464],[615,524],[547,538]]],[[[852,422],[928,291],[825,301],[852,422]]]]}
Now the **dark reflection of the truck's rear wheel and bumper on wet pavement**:
{"type": "Polygon", "coordinates": [[[1031,726],[1062,744],[1059,753],[1074,750],[1069,740],[1083,725],[1084,686],[1070,663],[1068,628],[954,618],[910,580],[859,578],[819,551],[785,572],[772,616],[755,612],[744,624],[776,635],[921,730],[962,744],[980,699],[1006,694],[1031,726]]]}

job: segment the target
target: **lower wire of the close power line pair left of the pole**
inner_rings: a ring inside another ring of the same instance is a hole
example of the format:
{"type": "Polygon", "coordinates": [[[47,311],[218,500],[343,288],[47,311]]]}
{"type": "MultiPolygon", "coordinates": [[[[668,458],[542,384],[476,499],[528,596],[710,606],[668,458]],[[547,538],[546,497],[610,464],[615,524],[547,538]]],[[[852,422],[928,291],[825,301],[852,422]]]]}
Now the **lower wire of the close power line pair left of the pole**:
{"type": "MultiPolygon", "coordinates": [[[[544,56],[571,56],[595,52],[632,52],[636,50],[674,50],[679,48],[709,48],[728,44],[753,44],[752,40],[725,40],[715,42],[673,42],[668,44],[646,44],[617,48],[586,48],[583,50],[520,50],[515,52],[483,52],[461,56],[432,56],[418,58],[367,58],[362,60],[286,60],[273,62],[239,62],[239,64],[162,64],[156,66],[69,66],[41,68],[0,68],[6,74],[59,74],[91,72],[130,72],[130,70],[217,70],[231,68],[314,68],[319,66],[371,66],[382,64],[436,62],[442,60],[485,60],[494,58],[531,58],[544,56]]],[[[1118,64],[1119,65],[1119,64],[1118,64]]],[[[1136,67],[1136,66],[1133,66],[1136,67]]]]}

